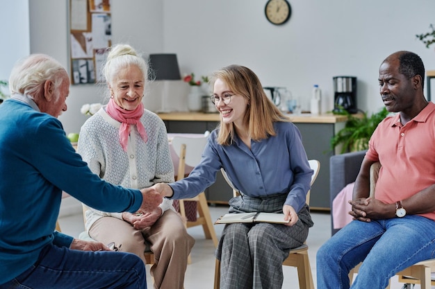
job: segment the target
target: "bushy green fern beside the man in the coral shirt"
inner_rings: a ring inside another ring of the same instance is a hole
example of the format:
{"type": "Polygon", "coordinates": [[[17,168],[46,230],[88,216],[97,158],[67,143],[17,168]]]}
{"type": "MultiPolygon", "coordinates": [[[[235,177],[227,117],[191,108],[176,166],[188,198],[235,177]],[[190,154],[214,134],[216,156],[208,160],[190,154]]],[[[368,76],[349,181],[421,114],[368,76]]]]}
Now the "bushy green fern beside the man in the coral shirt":
{"type": "Polygon", "coordinates": [[[347,115],[345,127],[331,138],[331,148],[333,150],[336,146],[342,145],[340,153],[367,150],[368,140],[377,125],[389,114],[385,107],[370,117],[367,116],[366,112],[363,112],[362,117],[354,116],[345,110],[343,112],[347,115]]]}

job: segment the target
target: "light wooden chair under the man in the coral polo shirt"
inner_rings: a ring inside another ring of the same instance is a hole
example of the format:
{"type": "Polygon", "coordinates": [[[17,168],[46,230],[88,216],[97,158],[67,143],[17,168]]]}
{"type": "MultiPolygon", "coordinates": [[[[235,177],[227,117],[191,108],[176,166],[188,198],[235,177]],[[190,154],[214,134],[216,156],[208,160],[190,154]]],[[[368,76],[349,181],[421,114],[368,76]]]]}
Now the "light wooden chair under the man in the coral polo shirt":
{"type": "MultiPolygon", "coordinates": [[[[370,167],[370,197],[373,197],[375,195],[375,187],[380,168],[381,164],[379,162],[372,164],[372,166],[370,167]]],[[[354,274],[358,273],[361,264],[362,263],[359,263],[349,272],[349,281],[351,284],[354,274]]],[[[400,272],[397,272],[396,275],[399,277],[399,282],[420,284],[421,289],[431,289],[432,286],[435,286],[435,280],[432,281],[431,278],[432,272],[435,272],[435,259],[418,262],[400,272]]],[[[386,289],[389,289],[390,285],[391,281],[388,282],[388,286],[386,287],[386,289]]]]}

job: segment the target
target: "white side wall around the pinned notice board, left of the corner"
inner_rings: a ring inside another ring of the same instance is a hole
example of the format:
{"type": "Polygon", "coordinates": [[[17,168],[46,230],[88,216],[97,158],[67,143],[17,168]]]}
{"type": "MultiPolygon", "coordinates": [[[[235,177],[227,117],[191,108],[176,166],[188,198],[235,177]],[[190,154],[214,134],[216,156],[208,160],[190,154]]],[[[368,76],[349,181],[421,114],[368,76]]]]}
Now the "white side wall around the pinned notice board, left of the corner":
{"type": "MultiPolygon", "coordinates": [[[[21,0],[22,1],[22,0],[21,0]]],[[[69,64],[68,0],[28,0],[31,14],[31,53],[47,53],[67,69],[69,64]]],[[[163,51],[161,1],[112,0],[113,43],[131,44],[145,57],[163,51]]],[[[65,132],[79,132],[88,116],[80,113],[85,103],[106,102],[101,85],[72,85],[68,110],[59,119],[65,132]]]]}

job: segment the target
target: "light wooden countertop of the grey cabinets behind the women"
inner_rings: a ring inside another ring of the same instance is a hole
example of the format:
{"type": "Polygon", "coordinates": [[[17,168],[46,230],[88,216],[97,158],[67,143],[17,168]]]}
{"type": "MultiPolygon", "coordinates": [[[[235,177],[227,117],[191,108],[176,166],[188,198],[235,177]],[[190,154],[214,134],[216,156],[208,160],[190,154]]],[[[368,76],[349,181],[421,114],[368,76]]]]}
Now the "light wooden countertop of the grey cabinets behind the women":
{"type": "MultiPolygon", "coordinates": [[[[202,112],[168,112],[158,114],[163,121],[220,121],[217,113],[202,112]]],[[[340,123],[347,120],[347,116],[339,114],[286,114],[293,123],[340,123]]]]}

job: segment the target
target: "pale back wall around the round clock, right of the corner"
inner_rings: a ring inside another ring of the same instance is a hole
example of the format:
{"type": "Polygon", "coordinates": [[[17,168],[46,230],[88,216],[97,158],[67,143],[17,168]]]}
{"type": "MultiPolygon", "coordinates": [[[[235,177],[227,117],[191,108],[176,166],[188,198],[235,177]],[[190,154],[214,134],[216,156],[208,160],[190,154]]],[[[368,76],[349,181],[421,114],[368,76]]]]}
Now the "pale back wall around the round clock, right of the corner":
{"type": "Polygon", "coordinates": [[[322,110],[333,107],[333,76],[358,78],[358,107],[377,111],[378,68],[398,50],[418,53],[435,69],[435,53],[416,40],[434,23],[433,0],[288,0],[284,26],[265,19],[267,1],[165,0],[165,49],[177,51],[183,73],[227,64],[253,69],[264,86],[288,87],[308,100],[322,88],[322,110]],[[183,11],[183,12],[180,12],[183,11]]]}

